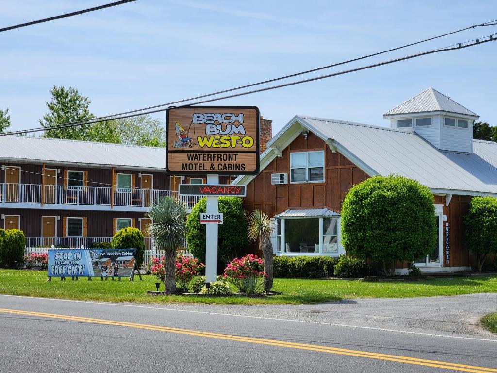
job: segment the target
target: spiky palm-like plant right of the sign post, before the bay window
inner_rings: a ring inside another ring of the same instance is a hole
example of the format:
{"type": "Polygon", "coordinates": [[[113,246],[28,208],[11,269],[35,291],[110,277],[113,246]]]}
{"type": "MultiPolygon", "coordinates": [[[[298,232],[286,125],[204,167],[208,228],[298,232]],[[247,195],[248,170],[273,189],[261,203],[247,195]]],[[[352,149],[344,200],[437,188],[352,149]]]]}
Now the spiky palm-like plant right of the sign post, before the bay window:
{"type": "Polygon", "coordinates": [[[265,212],[254,210],[248,215],[248,239],[252,242],[259,240],[259,250],[262,251],[264,259],[264,272],[267,282],[264,281],[264,290],[273,287],[273,248],[271,245],[271,233],[273,231],[271,219],[265,212]]]}

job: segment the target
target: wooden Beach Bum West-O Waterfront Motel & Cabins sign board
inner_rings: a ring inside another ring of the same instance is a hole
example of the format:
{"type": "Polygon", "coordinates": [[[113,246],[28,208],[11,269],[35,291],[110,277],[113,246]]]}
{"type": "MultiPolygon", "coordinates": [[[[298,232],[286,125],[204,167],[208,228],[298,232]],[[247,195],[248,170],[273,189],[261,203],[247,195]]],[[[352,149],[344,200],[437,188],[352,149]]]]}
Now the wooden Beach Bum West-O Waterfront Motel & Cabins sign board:
{"type": "Polygon", "coordinates": [[[172,174],[256,175],[259,109],[189,106],[167,110],[166,171],[172,174]]]}

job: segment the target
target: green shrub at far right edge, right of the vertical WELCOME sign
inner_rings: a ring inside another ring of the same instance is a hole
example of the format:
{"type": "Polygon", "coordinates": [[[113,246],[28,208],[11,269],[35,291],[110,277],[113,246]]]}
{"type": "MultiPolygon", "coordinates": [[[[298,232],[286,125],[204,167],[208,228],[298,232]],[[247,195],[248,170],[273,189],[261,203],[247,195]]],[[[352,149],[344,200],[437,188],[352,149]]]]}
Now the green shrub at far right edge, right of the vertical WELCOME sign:
{"type": "Polygon", "coordinates": [[[497,198],[473,197],[465,216],[466,245],[478,260],[478,271],[489,254],[497,254],[497,198]]]}

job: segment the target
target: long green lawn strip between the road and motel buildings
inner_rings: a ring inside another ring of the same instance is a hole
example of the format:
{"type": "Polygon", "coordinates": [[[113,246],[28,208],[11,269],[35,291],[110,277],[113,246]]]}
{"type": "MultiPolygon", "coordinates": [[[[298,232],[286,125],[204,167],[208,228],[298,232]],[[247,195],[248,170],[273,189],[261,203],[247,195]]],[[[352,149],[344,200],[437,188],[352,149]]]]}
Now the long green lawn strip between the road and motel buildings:
{"type": "MultiPolygon", "coordinates": [[[[140,303],[317,303],[350,298],[392,298],[435,295],[459,295],[478,292],[497,292],[497,277],[479,276],[466,278],[442,278],[417,281],[363,282],[360,280],[306,280],[275,279],[273,290],[283,295],[269,297],[202,297],[196,295],[152,296],[147,290],[155,290],[156,278],[144,276],[134,282],[60,281],[57,278],[45,282],[46,272],[29,270],[0,270],[0,294],[29,295],[49,298],[98,300],[107,302],[140,303]]],[[[497,319],[497,316],[495,316],[497,319]]]]}

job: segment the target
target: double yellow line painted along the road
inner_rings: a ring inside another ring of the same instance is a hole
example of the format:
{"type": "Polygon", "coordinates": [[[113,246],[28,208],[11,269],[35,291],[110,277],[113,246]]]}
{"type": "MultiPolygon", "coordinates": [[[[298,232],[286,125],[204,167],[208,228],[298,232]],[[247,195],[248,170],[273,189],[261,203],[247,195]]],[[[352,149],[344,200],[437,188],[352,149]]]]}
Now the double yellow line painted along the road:
{"type": "Polygon", "coordinates": [[[216,339],[255,343],[255,344],[261,344],[261,345],[268,345],[268,346],[286,347],[286,348],[294,348],[294,349],[300,349],[300,350],[326,352],[326,353],[331,353],[331,354],[356,356],[356,357],[376,359],[376,360],[386,360],[386,361],[405,363],[405,364],[414,364],[414,365],[420,365],[420,366],[426,366],[426,367],[451,369],[451,370],[462,371],[462,372],[474,372],[474,373],[496,372],[497,373],[497,369],[492,369],[492,368],[475,367],[475,366],[471,366],[471,365],[447,363],[447,362],[440,362],[440,361],[435,361],[435,360],[417,359],[417,358],[411,358],[408,356],[388,355],[388,354],[380,354],[380,353],[373,353],[373,352],[366,352],[366,351],[341,349],[341,348],[329,347],[329,346],[277,341],[277,340],[271,340],[271,339],[265,339],[265,338],[244,337],[244,336],[237,336],[237,335],[230,335],[230,334],[204,332],[204,331],[199,331],[199,330],[172,328],[172,327],[159,326],[159,325],[138,324],[138,323],[131,323],[131,322],[126,322],[126,321],[95,319],[95,318],[90,318],[90,317],[60,315],[60,314],[33,312],[33,311],[23,311],[23,310],[7,309],[7,308],[0,308],[0,312],[17,314],[17,315],[27,315],[27,316],[47,317],[47,318],[53,318],[53,319],[80,321],[80,322],[87,322],[87,323],[100,324],[100,325],[124,326],[124,327],[129,327],[129,328],[162,331],[162,332],[176,333],[176,334],[186,334],[186,335],[193,335],[193,336],[198,336],[198,337],[216,338],[216,339]]]}

